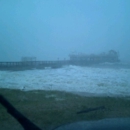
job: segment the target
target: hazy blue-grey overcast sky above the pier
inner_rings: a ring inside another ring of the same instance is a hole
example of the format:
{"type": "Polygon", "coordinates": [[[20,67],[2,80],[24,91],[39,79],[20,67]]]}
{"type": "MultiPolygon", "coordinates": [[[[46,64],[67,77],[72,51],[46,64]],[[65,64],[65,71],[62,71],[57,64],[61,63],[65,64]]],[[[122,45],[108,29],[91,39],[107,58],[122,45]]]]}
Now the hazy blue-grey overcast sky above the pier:
{"type": "Polygon", "coordinates": [[[0,0],[0,61],[110,49],[130,61],[130,0],[0,0]]]}

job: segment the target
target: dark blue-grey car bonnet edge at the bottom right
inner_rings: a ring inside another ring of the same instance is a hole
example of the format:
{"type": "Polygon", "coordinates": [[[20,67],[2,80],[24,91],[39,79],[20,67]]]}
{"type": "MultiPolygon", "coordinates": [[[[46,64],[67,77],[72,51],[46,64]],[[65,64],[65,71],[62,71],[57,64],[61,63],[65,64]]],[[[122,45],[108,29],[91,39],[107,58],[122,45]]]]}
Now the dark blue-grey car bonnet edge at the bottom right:
{"type": "Polygon", "coordinates": [[[62,125],[55,130],[130,130],[130,118],[108,118],[62,125]]]}

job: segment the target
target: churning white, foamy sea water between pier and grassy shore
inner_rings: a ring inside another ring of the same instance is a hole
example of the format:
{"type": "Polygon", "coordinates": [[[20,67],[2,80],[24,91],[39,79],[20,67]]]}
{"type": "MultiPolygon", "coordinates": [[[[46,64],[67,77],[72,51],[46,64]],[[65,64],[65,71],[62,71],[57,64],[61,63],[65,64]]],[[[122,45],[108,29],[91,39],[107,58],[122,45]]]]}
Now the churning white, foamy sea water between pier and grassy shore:
{"type": "Polygon", "coordinates": [[[117,64],[58,69],[0,71],[0,88],[59,90],[105,96],[130,96],[130,68],[117,64]]]}

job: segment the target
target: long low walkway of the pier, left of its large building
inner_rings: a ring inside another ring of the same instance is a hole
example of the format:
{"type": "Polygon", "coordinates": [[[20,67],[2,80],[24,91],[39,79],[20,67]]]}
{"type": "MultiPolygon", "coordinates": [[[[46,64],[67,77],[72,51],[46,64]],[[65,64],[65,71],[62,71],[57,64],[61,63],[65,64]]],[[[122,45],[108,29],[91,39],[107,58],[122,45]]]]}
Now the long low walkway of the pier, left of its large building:
{"type": "Polygon", "coordinates": [[[64,65],[68,65],[68,64],[69,64],[68,60],[0,62],[0,70],[27,70],[27,69],[60,68],[64,65]]]}

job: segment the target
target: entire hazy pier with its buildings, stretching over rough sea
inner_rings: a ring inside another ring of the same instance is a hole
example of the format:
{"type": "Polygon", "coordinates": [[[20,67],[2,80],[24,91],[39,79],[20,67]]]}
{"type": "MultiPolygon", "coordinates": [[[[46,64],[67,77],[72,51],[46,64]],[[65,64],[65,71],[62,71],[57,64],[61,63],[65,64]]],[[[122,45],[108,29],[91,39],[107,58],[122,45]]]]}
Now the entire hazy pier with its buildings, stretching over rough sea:
{"type": "Polygon", "coordinates": [[[19,62],[0,62],[0,70],[27,70],[60,68],[65,65],[89,66],[103,62],[119,62],[119,55],[116,51],[110,50],[108,53],[95,54],[71,54],[69,60],[37,61],[36,57],[22,57],[19,62]]]}

